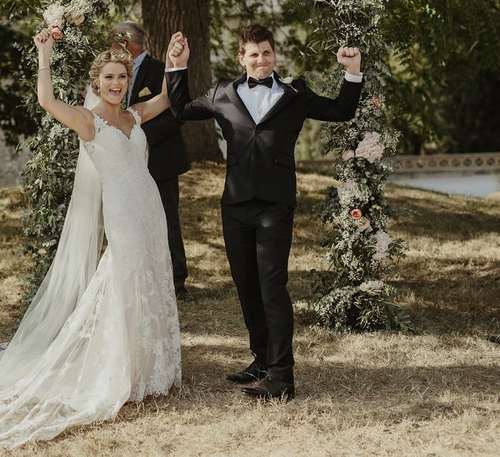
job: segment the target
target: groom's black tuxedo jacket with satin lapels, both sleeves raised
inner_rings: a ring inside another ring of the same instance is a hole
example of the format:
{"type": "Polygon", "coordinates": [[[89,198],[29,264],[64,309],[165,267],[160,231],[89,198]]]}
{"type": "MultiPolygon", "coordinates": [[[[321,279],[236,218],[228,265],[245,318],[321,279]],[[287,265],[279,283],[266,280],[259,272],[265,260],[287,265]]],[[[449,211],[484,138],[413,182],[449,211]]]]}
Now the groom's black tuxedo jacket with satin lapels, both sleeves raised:
{"type": "MultiPolygon", "coordinates": [[[[170,108],[177,119],[214,117],[227,141],[226,181],[221,202],[259,198],[296,205],[295,141],[306,118],[348,121],[354,117],[363,84],[344,81],[339,97],[320,97],[303,80],[283,84],[284,94],[255,124],[236,92],[238,80],[220,80],[203,97],[190,99],[188,71],[165,73],[170,108]]],[[[275,74],[278,81],[279,77],[275,74]]],[[[281,84],[281,83],[280,83],[281,84]]]]}

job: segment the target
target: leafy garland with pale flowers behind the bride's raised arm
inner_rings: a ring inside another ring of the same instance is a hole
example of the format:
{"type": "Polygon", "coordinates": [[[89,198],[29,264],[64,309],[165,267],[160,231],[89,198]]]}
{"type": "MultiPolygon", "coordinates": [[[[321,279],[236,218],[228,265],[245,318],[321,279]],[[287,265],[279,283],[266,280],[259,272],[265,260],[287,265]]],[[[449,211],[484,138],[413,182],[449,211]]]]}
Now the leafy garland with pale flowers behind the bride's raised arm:
{"type": "MultiPolygon", "coordinates": [[[[57,27],[56,32],[61,36],[52,49],[51,74],[54,94],[62,102],[70,105],[82,102],[80,90],[86,85],[91,62],[106,47],[102,37],[107,34],[100,19],[109,18],[111,3],[122,12],[126,1],[71,0],[54,3],[45,11],[38,10],[40,18],[45,16],[45,20],[39,20],[39,28],[57,27]]],[[[38,105],[36,47],[30,43],[21,52],[24,62],[20,77],[30,89],[23,98],[23,106],[38,128],[34,137],[21,145],[29,146],[32,151],[23,183],[30,209],[22,221],[23,232],[30,237],[26,250],[32,253],[34,261],[25,293],[26,301],[31,301],[56,253],[73,188],[79,144],[76,132],[38,105]]]]}

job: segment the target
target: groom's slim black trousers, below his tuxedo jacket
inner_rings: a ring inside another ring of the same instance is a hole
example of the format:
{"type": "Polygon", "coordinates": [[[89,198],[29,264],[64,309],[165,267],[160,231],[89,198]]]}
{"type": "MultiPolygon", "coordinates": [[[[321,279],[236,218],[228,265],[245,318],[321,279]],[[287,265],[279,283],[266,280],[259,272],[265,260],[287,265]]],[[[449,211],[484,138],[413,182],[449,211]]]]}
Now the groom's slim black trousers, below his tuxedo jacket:
{"type": "Polygon", "coordinates": [[[268,375],[293,382],[293,308],[286,290],[293,207],[249,200],[223,204],[231,275],[249,331],[250,349],[268,375]]]}

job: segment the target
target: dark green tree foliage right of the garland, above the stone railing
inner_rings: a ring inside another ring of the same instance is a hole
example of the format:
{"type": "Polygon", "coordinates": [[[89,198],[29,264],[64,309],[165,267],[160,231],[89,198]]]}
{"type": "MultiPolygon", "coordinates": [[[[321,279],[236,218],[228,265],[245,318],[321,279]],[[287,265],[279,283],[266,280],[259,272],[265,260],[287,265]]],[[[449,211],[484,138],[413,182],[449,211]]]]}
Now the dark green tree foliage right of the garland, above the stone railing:
{"type": "Polygon", "coordinates": [[[382,33],[394,43],[387,80],[401,150],[499,150],[500,2],[394,0],[382,33]]]}

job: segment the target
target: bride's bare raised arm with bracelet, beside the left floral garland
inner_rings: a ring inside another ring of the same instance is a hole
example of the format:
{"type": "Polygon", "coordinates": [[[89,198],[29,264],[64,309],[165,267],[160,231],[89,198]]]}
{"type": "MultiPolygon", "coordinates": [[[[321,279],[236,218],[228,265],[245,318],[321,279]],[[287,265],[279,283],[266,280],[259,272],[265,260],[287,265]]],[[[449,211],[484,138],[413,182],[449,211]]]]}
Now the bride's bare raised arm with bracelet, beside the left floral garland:
{"type": "Polygon", "coordinates": [[[84,141],[90,141],[95,135],[93,115],[83,106],[71,106],[54,97],[54,87],[50,74],[50,54],[54,45],[54,38],[47,29],[43,29],[34,37],[38,48],[38,84],[36,92],[38,103],[54,116],[60,123],[75,130],[84,141]]]}

